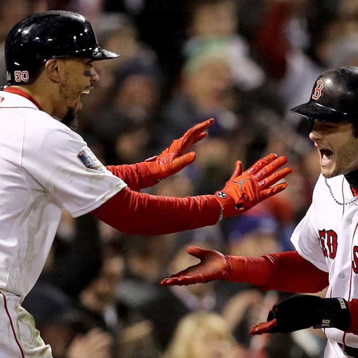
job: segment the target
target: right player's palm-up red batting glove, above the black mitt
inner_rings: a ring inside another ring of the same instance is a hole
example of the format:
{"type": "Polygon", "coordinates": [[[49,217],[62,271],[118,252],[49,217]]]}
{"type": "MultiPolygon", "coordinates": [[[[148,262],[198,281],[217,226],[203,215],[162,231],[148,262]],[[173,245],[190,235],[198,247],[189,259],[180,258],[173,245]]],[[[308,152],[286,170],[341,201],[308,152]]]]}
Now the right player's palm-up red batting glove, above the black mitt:
{"type": "MultiPolygon", "coordinates": [[[[198,283],[205,283],[213,280],[231,280],[233,276],[233,265],[231,257],[225,255],[219,251],[206,250],[198,246],[189,246],[187,252],[200,259],[197,265],[188,267],[187,269],[178,272],[177,274],[165,277],[160,281],[162,286],[173,286],[173,285],[191,285],[198,283]]],[[[242,272],[243,275],[246,272],[246,261],[235,262],[235,273],[234,275],[236,282],[243,281],[237,276],[242,272]],[[238,267],[241,265],[242,268],[238,267]]]]}

